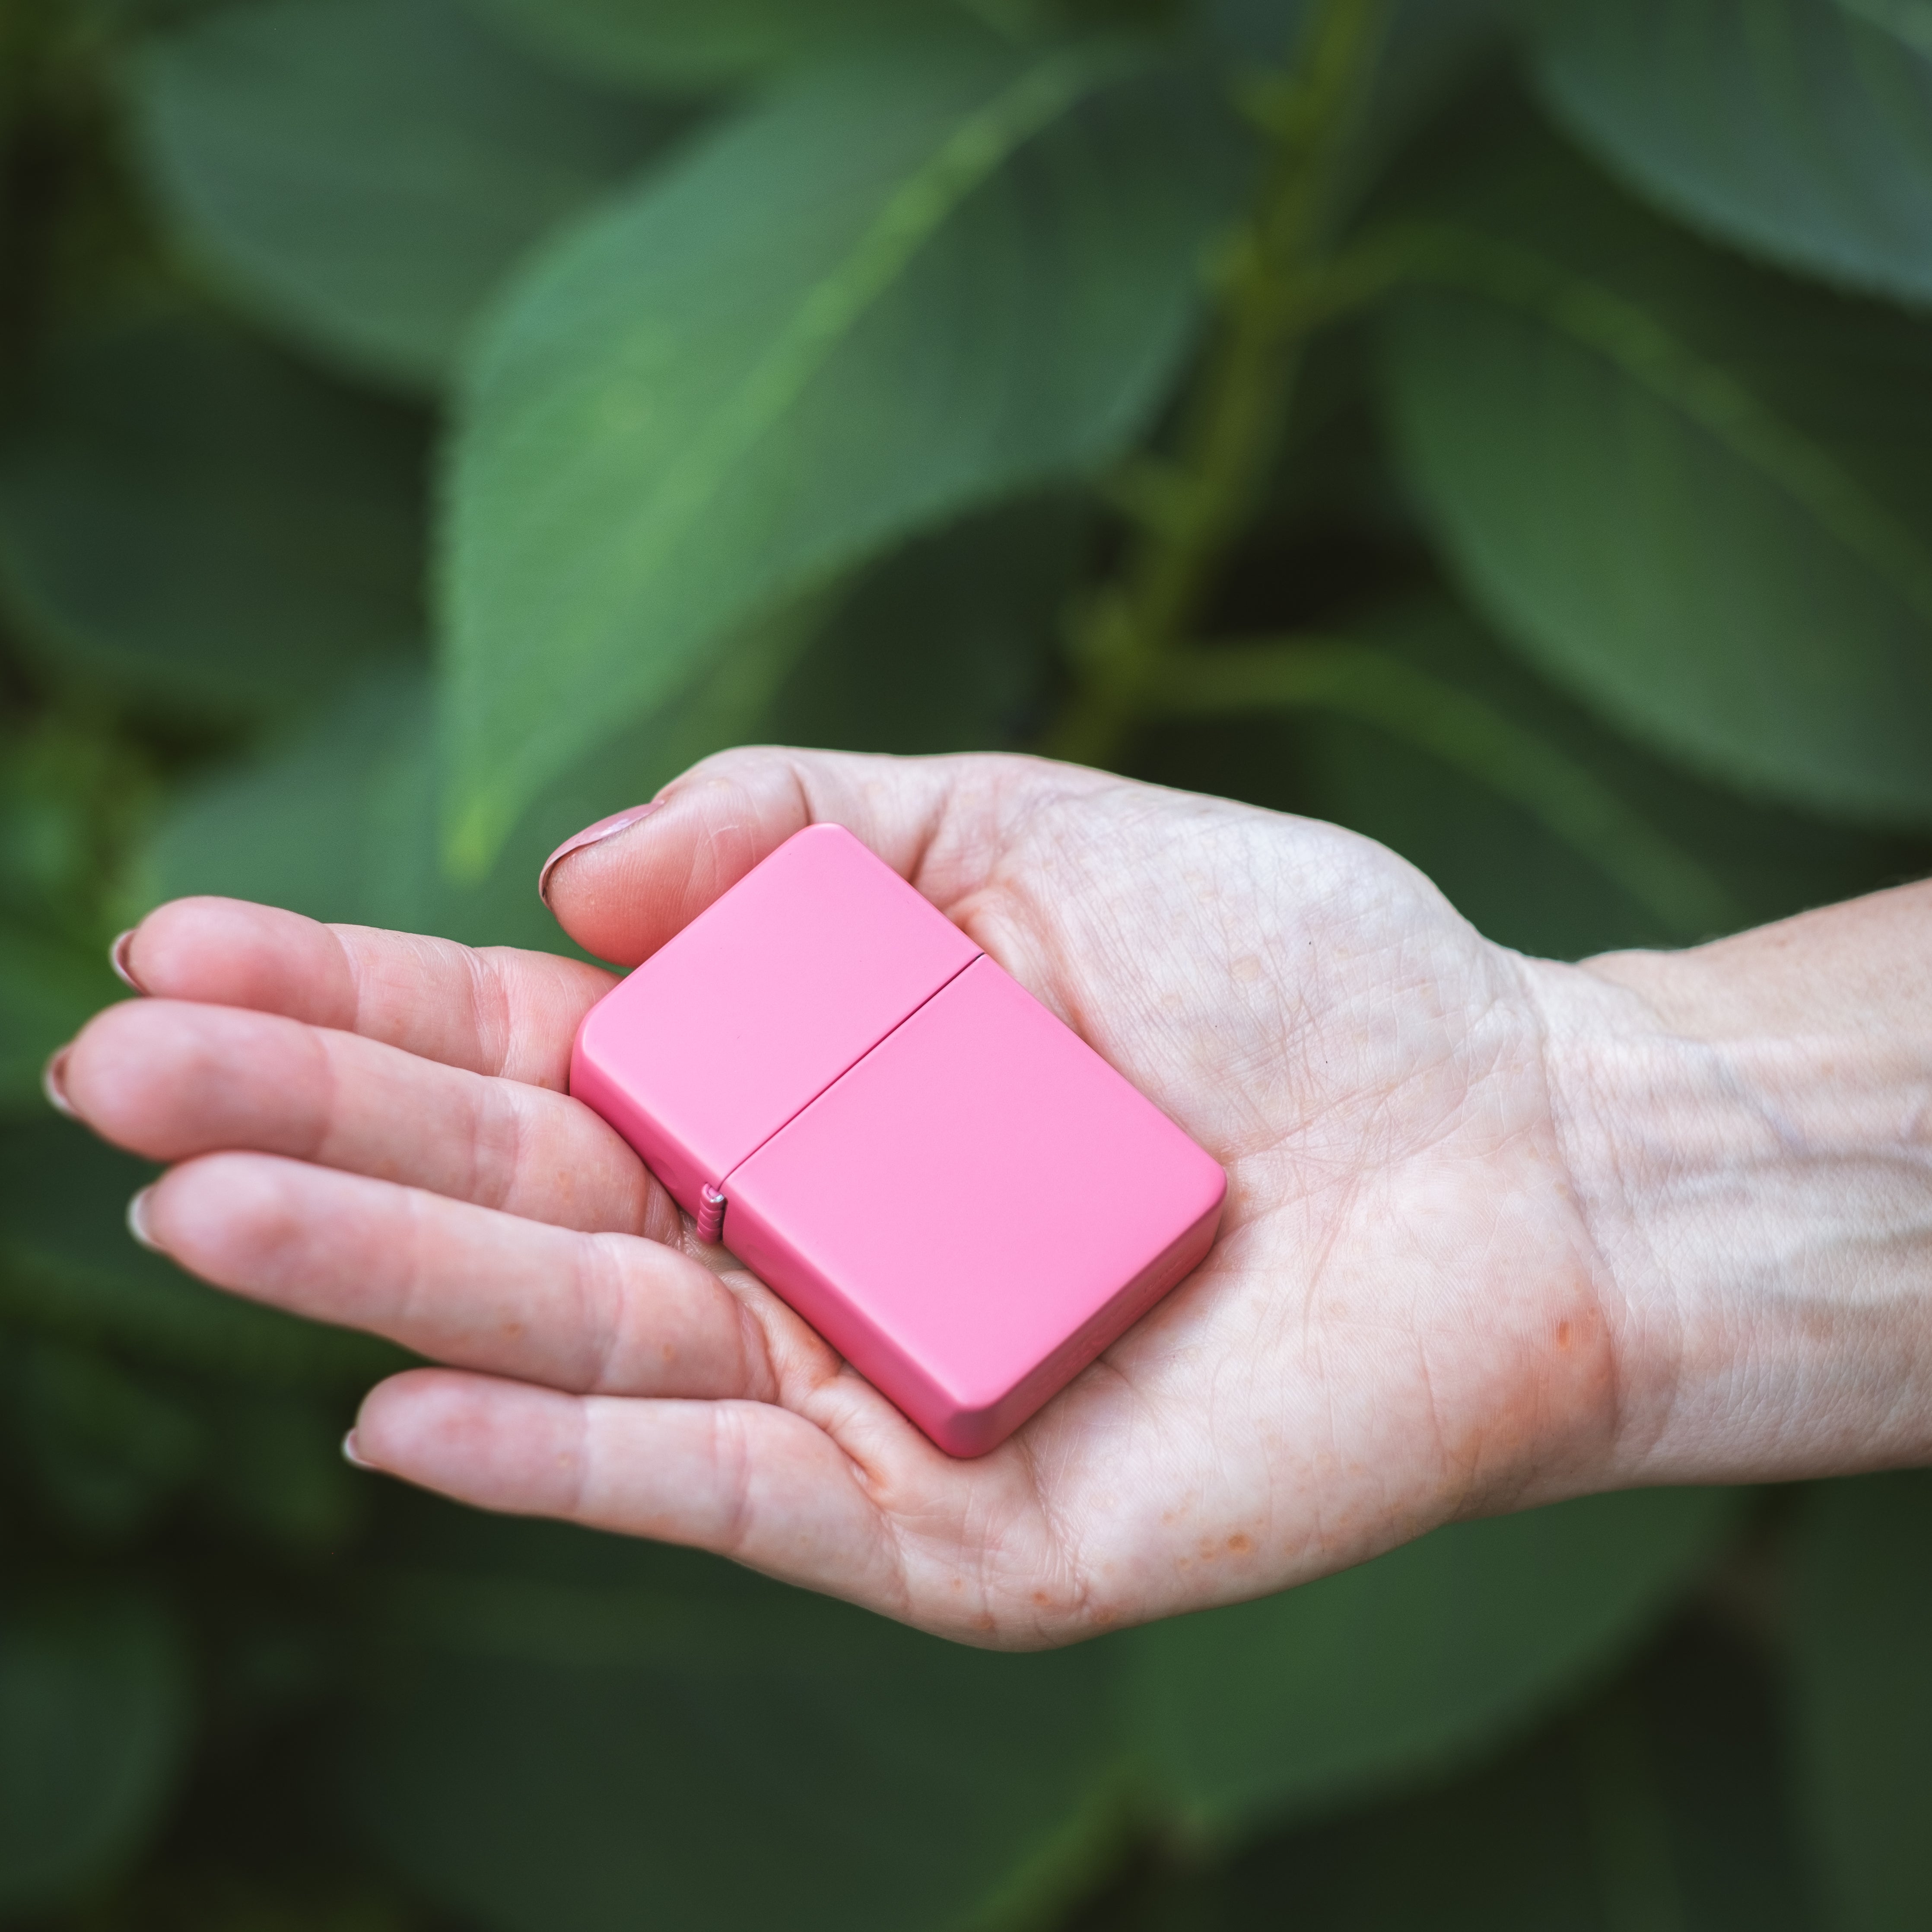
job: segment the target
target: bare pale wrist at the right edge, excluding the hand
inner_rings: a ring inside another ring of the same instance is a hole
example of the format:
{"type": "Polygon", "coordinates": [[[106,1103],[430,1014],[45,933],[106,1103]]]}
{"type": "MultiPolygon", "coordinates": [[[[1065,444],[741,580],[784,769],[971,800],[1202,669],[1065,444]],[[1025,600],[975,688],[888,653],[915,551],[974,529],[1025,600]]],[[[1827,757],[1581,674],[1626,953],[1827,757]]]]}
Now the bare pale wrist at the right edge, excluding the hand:
{"type": "Polygon", "coordinates": [[[1532,972],[1611,1283],[1607,1482],[1932,1459],[1932,1001],[1897,949],[1874,976],[1868,906],[1532,972]]]}

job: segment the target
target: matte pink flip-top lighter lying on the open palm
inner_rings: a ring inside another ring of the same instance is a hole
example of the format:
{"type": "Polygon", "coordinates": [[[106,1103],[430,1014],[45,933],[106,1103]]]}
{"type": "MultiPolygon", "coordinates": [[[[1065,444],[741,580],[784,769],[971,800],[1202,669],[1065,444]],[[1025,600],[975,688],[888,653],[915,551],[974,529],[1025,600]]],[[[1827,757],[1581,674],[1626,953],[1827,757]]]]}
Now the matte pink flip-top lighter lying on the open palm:
{"type": "Polygon", "coordinates": [[[960,1457],[1175,1287],[1227,1190],[837,825],[788,838],[605,995],[570,1092],[960,1457]]]}

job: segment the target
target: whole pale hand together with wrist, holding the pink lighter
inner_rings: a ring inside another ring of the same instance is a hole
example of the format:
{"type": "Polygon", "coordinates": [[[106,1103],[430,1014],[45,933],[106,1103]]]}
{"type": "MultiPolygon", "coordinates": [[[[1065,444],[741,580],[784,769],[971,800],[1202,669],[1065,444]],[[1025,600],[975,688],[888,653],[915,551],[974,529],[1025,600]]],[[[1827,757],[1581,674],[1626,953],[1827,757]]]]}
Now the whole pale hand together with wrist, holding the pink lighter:
{"type": "Polygon", "coordinates": [[[1012,757],[744,750],[549,879],[634,964],[850,827],[1227,1169],[1208,1262],[952,1461],[566,1088],[612,983],[153,912],[50,1090],[193,1273],[433,1364],[354,1455],[1032,1648],[1457,1517],[1932,1461],[1932,889],[1584,966],[1350,833],[1012,757]]]}

